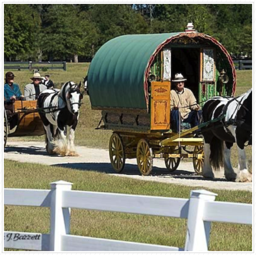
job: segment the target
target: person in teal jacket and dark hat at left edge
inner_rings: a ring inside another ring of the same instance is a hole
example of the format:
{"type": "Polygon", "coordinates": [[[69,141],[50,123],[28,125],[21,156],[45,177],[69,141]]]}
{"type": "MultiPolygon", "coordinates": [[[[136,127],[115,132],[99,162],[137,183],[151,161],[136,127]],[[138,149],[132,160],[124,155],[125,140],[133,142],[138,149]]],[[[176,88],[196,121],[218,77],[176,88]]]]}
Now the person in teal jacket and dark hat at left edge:
{"type": "Polygon", "coordinates": [[[4,102],[6,104],[11,104],[15,100],[23,97],[18,84],[14,83],[14,77],[13,72],[6,73],[4,84],[4,102]]]}

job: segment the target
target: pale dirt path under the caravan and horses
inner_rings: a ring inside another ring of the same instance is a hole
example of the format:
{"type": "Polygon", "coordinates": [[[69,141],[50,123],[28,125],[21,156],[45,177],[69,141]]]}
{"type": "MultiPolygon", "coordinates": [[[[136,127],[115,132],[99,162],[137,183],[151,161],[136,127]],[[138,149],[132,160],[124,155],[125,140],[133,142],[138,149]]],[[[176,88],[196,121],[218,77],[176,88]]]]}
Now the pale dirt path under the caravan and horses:
{"type": "Polygon", "coordinates": [[[214,180],[204,180],[197,176],[193,170],[192,161],[180,162],[179,168],[170,173],[166,170],[164,160],[154,159],[154,167],[151,176],[141,176],[136,164],[136,159],[127,159],[122,173],[117,174],[112,169],[109,152],[104,149],[92,149],[77,146],[79,157],[61,157],[48,155],[42,142],[8,142],[4,150],[4,158],[20,162],[31,162],[48,164],[52,166],[62,166],[83,171],[98,171],[117,175],[120,177],[136,178],[156,182],[166,182],[181,184],[186,186],[197,186],[212,189],[232,189],[252,191],[252,183],[227,182],[223,178],[223,172],[215,174],[214,180]]]}

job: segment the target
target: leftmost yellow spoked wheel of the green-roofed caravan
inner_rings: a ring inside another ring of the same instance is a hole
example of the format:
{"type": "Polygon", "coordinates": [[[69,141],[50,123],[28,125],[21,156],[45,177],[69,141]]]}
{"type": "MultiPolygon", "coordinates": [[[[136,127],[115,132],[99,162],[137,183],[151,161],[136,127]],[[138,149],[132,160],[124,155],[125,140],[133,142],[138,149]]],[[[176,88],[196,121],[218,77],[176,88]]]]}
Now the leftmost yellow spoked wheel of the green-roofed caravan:
{"type": "Polygon", "coordinates": [[[121,172],[125,165],[125,150],[120,135],[112,134],[109,141],[109,157],[116,172],[121,172]]]}

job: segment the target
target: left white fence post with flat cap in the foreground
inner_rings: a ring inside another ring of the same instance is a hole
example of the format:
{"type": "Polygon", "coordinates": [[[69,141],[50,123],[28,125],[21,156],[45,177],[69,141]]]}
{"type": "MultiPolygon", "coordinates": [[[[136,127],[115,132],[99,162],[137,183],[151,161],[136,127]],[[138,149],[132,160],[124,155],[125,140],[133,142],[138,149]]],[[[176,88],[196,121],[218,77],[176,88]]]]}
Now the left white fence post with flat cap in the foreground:
{"type": "Polygon", "coordinates": [[[70,232],[70,208],[62,208],[63,191],[71,190],[71,182],[63,180],[51,184],[50,251],[61,251],[61,235],[70,232]]]}

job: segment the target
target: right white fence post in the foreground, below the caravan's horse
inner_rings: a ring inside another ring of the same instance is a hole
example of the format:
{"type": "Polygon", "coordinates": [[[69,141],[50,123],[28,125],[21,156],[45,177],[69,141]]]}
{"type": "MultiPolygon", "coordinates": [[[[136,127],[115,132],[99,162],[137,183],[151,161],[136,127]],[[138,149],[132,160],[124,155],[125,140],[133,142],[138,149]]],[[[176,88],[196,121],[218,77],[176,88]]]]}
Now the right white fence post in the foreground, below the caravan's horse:
{"type": "Polygon", "coordinates": [[[208,251],[211,222],[203,220],[204,202],[214,201],[216,196],[206,190],[190,192],[185,251],[208,251]]]}

